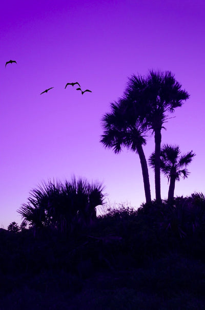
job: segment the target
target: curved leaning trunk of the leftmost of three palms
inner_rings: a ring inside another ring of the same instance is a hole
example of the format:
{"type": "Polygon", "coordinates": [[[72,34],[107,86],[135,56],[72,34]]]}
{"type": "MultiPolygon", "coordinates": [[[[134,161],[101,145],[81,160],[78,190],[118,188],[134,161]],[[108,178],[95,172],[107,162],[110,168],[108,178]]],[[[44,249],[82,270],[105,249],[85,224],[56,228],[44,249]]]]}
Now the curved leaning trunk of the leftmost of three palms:
{"type": "Polygon", "coordinates": [[[137,153],[139,155],[139,159],[140,159],[140,163],[141,163],[141,170],[142,170],[142,176],[143,176],[143,181],[144,181],[146,203],[148,203],[148,202],[152,201],[151,191],[150,191],[150,179],[149,179],[147,160],[145,157],[144,150],[142,149],[142,145],[138,145],[137,153]]]}

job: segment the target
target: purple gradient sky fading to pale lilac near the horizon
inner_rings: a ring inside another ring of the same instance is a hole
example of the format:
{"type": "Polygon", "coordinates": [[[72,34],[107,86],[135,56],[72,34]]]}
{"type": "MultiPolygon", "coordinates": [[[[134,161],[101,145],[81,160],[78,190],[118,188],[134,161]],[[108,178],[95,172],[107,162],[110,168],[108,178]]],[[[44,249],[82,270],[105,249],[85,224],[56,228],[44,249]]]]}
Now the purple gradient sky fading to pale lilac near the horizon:
{"type": "MultiPolygon", "coordinates": [[[[74,174],[103,182],[111,203],[145,202],[138,155],[116,155],[99,139],[128,77],[150,69],[170,70],[190,94],[162,131],[162,143],[196,153],[175,195],[204,193],[204,0],[4,1],[0,43],[0,227],[20,223],[16,210],[49,178],[74,174]],[[5,69],[10,59],[17,64],[5,69]],[[65,89],[76,81],[92,93],[65,89]]],[[[148,158],[154,137],[147,140],[148,158]]],[[[155,198],[151,169],[150,183],[155,198]]]]}

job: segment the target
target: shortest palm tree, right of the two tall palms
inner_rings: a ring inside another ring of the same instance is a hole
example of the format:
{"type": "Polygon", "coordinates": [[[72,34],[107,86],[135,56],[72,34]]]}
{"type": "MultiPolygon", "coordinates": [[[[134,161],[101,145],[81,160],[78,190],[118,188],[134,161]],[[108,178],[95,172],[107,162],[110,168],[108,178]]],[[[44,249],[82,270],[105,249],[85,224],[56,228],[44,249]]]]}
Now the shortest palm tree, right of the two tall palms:
{"type": "MultiPolygon", "coordinates": [[[[168,199],[174,198],[175,181],[179,181],[180,177],[184,179],[188,177],[189,172],[187,165],[192,161],[195,154],[193,151],[181,155],[178,145],[162,146],[160,151],[160,169],[162,173],[168,177],[170,181],[168,199]]],[[[152,168],[155,167],[155,153],[152,153],[149,158],[149,163],[152,168]]]]}

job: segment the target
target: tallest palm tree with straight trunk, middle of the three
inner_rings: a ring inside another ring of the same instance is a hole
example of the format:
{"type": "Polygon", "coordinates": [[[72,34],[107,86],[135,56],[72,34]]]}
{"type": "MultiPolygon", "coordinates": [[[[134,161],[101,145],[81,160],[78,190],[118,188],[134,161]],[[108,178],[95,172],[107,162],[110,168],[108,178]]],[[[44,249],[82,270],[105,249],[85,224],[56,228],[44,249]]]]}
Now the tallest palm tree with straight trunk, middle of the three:
{"type": "Polygon", "coordinates": [[[124,93],[124,101],[140,112],[139,119],[144,120],[147,128],[153,131],[155,138],[155,194],[161,199],[160,193],[160,147],[161,129],[168,119],[168,113],[174,112],[189,98],[186,90],[176,81],[170,71],[149,71],[147,77],[132,75],[124,93]],[[136,106],[140,105],[140,109],[136,106]]]}

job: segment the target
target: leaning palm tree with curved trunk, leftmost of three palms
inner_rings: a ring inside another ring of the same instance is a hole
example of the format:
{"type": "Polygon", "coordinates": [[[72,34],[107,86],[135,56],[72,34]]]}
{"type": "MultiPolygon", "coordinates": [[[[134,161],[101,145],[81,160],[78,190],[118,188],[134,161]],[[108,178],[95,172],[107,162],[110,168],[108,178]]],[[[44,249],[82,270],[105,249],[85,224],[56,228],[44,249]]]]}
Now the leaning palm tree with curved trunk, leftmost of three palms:
{"type": "Polygon", "coordinates": [[[146,202],[151,201],[150,181],[147,160],[143,145],[146,145],[146,127],[138,114],[132,113],[125,108],[123,99],[111,103],[111,112],[103,117],[102,126],[104,134],[101,135],[100,142],[106,148],[112,148],[115,153],[120,153],[123,147],[127,147],[139,155],[142,176],[144,180],[146,202]],[[137,117],[136,117],[137,115],[137,117]]]}

